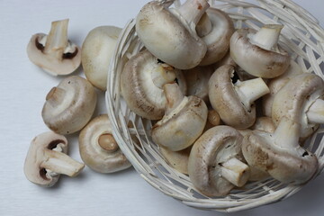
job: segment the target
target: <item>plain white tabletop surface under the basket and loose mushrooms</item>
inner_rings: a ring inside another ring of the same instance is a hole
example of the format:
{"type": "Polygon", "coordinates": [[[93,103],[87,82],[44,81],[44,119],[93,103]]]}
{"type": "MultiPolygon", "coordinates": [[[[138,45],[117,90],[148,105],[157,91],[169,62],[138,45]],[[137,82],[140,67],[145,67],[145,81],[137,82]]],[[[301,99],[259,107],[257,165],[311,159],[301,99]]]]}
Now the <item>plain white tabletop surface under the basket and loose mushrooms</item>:
{"type": "MultiPolygon", "coordinates": [[[[0,0],[0,215],[225,215],[186,207],[147,184],[134,169],[112,175],[85,167],[76,178],[61,176],[53,188],[31,184],[23,175],[31,139],[48,130],[40,112],[45,96],[62,77],[31,64],[25,49],[31,35],[49,31],[50,22],[69,18],[69,37],[81,45],[99,25],[122,27],[145,0],[0,0]]],[[[324,23],[324,2],[296,0],[324,23]]],[[[83,76],[78,70],[76,75],[83,76]]],[[[103,94],[96,113],[104,113],[103,94]]],[[[70,155],[81,161],[76,136],[70,155]]],[[[324,176],[293,197],[231,215],[317,216],[324,212],[324,176]]]]}

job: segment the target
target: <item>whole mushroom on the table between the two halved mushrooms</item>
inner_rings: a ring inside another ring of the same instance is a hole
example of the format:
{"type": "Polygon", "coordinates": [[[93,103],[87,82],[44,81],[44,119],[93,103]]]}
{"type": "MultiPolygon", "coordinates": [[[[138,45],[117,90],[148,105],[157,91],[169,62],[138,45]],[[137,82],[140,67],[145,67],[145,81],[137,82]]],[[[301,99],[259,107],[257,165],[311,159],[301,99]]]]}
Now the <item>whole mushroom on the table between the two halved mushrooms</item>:
{"type": "Polygon", "coordinates": [[[81,76],[68,76],[46,96],[41,116],[50,130],[74,133],[85,127],[96,105],[93,85],[81,76]]]}

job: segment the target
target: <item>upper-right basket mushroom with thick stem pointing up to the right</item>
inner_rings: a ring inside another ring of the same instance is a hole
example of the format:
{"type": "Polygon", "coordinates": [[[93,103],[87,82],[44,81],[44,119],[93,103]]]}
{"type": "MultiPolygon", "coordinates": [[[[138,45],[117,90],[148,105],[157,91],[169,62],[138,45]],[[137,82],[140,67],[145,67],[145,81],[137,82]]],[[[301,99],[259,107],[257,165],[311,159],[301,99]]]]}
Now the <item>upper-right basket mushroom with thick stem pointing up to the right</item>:
{"type": "Polygon", "coordinates": [[[290,57],[278,45],[282,25],[266,24],[259,31],[239,29],[230,38],[230,56],[248,74],[274,78],[284,74],[290,57]]]}

